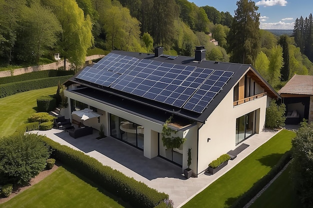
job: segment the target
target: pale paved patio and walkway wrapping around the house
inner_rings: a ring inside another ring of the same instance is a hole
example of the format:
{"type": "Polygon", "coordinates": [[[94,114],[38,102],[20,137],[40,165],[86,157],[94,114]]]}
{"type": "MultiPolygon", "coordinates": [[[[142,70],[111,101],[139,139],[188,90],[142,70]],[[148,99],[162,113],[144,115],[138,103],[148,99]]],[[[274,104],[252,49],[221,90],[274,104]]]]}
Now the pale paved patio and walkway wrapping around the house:
{"type": "Polygon", "coordinates": [[[205,173],[198,178],[185,179],[180,167],[177,167],[161,158],[145,158],[143,152],[121,141],[106,137],[100,140],[98,132],[93,135],[74,139],[62,130],[51,129],[48,131],[33,131],[46,135],[48,138],[75,150],[80,150],[86,155],[97,159],[103,165],[110,166],[128,177],[145,183],[147,186],[169,195],[175,208],[180,208],[192,197],[200,193],[211,183],[225,174],[255,149],[274,136],[277,131],[264,130],[255,134],[243,143],[249,145],[234,160],[230,160],[223,169],[214,175],[205,173]]]}

